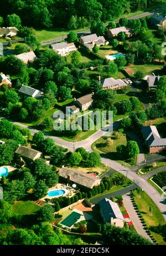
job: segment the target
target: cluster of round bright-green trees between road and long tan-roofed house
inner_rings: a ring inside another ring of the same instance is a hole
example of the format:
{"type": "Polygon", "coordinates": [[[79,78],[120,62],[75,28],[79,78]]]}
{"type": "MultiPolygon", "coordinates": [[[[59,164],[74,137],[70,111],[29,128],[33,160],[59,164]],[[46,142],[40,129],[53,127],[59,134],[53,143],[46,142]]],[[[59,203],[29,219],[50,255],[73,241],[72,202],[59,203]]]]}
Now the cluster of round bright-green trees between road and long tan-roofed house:
{"type": "Polygon", "coordinates": [[[71,166],[79,166],[82,162],[88,167],[95,167],[100,165],[101,159],[97,152],[87,152],[84,147],[79,147],[74,153],[71,153],[69,157],[71,166]]]}

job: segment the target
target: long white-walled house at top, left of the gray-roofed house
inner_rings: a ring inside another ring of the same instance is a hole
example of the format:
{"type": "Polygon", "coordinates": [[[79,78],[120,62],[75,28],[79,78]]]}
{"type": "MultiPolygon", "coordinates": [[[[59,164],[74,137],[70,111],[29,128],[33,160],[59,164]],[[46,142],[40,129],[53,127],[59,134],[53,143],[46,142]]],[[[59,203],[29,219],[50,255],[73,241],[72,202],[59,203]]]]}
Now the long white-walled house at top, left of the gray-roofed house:
{"type": "Polygon", "coordinates": [[[51,48],[53,50],[55,50],[61,56],[64,56],[68,53],[71,53],[71,52],[74,52],[75,50],[77,50],[74,43],[68,44],[66,42],[52,44],[51,48]]]}

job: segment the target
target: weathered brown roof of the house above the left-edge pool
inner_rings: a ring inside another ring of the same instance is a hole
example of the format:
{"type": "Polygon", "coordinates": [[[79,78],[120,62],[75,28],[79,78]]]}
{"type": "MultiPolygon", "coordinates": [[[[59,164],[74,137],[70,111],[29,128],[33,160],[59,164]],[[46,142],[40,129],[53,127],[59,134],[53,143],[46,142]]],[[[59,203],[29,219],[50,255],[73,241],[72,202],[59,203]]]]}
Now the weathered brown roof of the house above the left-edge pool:
{"type": "Polygon", "coordinates": [[[42,152],[26,146],[19,146],[17,150],[15,150],[15,153],[17,153],[19,156],[28,158],[29,160],[33,161],[42,156],[42,152]]]}

